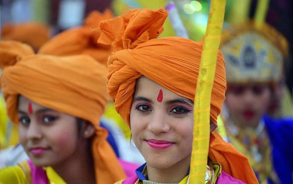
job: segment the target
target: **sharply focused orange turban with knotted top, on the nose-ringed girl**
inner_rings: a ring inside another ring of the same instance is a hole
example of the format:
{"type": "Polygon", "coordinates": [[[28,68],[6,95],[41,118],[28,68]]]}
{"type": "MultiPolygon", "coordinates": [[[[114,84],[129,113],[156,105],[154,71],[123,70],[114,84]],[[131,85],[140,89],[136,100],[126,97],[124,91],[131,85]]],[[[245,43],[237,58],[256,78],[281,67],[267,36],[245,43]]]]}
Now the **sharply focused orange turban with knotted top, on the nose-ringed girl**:
{"type": "MultiPolygon", "coordinates": [[[[126,12],[100,23],[98,42],[112,44],[117,52],[108,58],[108,92],[117,112],[130,126],[130,108],[136,79],[142,75],[170,91],[194,100],[202,54],[202,42],[181,37],[157,39],[163,32],[168,13],[144,8],[126,12]],[[163,71],[162,71],[163,70],[163,71]]],[[[225,63],[218,52],[212,88],[210,118],[217,126],[217,116],[225,99],[225,63]]],[[[217,132],[211,133],[209,157],[222,169],[246,183],[257,183],[247,158],[217,132]]]]}

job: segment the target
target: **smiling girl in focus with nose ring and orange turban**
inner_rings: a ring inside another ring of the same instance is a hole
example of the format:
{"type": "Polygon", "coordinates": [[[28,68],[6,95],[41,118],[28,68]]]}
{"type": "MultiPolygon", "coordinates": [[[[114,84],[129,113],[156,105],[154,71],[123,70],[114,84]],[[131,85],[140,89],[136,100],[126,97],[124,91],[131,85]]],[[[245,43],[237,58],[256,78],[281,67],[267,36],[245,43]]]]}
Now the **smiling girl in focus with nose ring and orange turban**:
{"type": "MultiPolygon", "coordinates": [[[[100,23],[98,43],[117,50],[108,58],[108,92],[146,160],[137,176],[118,183],[188,183],[193,100],[203,44],[181,37],[157,39],[167,16],[163,9],[144,8],[100,23]]],[[[225,90],[225,64],[219,51],[206,182],[257,183],[247,158],[214,131],[225,90]]]]}

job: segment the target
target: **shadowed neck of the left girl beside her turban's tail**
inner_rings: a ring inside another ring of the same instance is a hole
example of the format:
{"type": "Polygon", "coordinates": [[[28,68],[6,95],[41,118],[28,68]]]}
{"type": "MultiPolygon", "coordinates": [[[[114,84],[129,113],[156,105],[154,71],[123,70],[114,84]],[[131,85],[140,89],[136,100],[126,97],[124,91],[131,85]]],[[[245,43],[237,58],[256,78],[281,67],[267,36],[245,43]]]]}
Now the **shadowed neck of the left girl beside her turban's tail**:
{"type": "Polygon", "coordinates": [[[96,183],[93,158],[90,149],[79,149],[79,151],[76,151],[67,160],[64,160],[56,166],[52,166],[52,168],[68,184],[96,183]]]}

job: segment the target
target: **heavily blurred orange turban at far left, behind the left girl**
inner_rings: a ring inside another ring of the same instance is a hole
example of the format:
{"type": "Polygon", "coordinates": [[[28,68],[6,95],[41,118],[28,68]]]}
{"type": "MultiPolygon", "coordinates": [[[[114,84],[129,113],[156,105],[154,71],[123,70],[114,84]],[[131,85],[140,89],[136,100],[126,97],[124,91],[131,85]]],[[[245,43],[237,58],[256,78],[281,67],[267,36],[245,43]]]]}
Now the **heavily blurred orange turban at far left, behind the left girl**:
{"type": "Polygon", "coordinates": [[[2,27],[1,40],[15,40],[29,44],[37,51],[50,39],[50,28],[41,23],[28,22],[19,25],[8,23],[2,27]]]}

